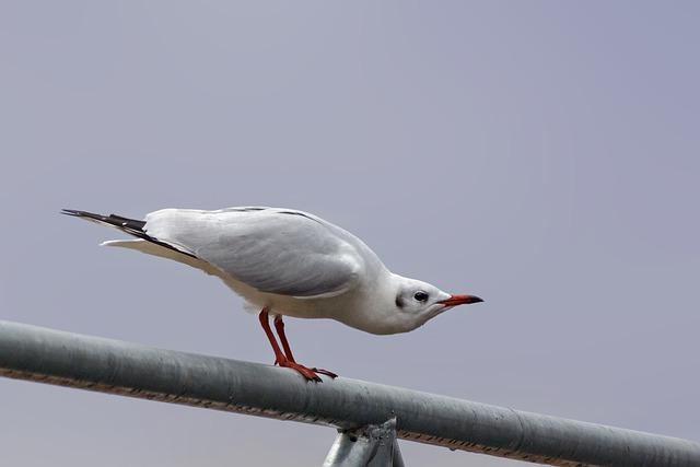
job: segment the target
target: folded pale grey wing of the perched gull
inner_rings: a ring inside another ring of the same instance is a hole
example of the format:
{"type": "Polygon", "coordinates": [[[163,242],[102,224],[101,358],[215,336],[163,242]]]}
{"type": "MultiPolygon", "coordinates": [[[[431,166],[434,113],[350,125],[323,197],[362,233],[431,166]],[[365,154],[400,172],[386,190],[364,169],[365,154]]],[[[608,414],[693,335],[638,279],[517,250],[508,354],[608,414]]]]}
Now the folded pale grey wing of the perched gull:
{"type": "Polygon", "coordinates": [[[362,266],[352,245],[301,211],[164,209],[145,221],[149,235],[261,292],[337,294],[352,287],[362,266]]]}

